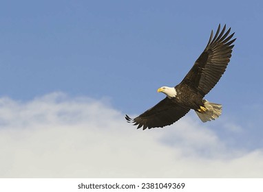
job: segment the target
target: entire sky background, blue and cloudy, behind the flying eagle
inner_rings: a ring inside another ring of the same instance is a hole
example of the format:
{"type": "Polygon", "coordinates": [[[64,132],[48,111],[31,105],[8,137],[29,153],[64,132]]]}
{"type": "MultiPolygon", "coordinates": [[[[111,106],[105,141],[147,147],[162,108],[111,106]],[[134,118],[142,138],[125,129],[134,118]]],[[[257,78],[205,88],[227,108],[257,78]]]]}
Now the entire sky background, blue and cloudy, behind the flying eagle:
{"type": "Polygon", "coordinates": [[[263,177],[262,1],[1,1],[0,177],[263,177]],[[231,62],[195,112],[125,122],[176,86],[211,29],[231,62]]]}

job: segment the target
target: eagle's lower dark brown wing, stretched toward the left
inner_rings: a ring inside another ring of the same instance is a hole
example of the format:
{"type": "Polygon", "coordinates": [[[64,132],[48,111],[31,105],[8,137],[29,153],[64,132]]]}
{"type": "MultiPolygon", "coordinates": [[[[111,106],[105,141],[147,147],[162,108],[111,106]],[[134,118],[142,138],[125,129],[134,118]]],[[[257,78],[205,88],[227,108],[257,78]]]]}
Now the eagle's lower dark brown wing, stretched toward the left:
{"type": "Polygon", "coordinates": [[[162,99],[156,106],[143,112],[143,114],[138,117],[131,119],[126,115],[125,119],[129,123],[138,125],[138,128],[143,127],[143,130],[146,128],[163,128],[166,125],[171,125],[178,121],[178,119],[185,116],[189,110],[190,108],[178,106],[171,101],[171,99],[165,97],[165,99],[162,99]]]}

